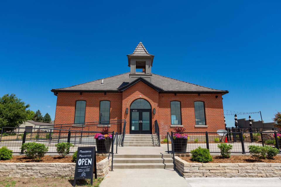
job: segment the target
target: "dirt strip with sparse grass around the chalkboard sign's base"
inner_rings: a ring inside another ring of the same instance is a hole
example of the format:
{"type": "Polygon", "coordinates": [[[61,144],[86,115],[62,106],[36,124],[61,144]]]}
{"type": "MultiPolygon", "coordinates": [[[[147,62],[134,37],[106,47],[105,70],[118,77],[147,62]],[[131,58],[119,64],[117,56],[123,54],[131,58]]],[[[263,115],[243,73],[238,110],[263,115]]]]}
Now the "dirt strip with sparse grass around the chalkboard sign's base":
{"type": "MultiPolygon", "coordinates": [[[[76,186],[81,187],[98,187],[103,178],[93,180],[93,185],[90,185],[90,179],[76,181],[76,186]]],[[[73,178],[57,177],[57,178],[19,178],[19,177],[0,177],[0,187],[71,187],[73,178]]]]}

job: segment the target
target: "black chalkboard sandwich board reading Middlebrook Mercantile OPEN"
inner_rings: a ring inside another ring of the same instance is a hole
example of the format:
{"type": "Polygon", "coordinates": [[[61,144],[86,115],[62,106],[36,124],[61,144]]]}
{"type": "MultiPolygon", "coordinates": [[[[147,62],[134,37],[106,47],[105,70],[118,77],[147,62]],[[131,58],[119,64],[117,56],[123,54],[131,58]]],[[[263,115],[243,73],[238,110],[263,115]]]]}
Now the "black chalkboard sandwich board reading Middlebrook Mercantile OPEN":
{"type": "Polygon", "coordinates": [[[73,186],[77,179],[97,179],[96,147],[78,147],[73,186]]]}

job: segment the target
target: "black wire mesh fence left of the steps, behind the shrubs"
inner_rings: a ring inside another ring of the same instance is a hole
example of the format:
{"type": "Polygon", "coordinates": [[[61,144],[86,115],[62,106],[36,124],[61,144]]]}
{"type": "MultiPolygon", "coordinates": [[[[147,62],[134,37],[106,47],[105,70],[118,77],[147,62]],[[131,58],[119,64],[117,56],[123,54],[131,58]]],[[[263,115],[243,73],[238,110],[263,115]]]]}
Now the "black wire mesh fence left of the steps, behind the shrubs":
{"type": "MultiPolygon", "coordinates": [[[[57,143],[72,143],[73,147],[70,153],[77,150],[78,147],[96,146],[97,153],[112,153],[114,141],[117,132],[102,131],[79,131],[72,129],[47,129],[32,128],[30,132],[21,132],[25,128],[5,128],[8,131],[2,131],[0,135],[0,147],[6,146],[13,150],[13,153],[22,153],[23,143],[42,143],[48,147],[47,153],[56,153],[57,143]]],[[[117,141],[116,141],[117,144],[117,141]]]]}

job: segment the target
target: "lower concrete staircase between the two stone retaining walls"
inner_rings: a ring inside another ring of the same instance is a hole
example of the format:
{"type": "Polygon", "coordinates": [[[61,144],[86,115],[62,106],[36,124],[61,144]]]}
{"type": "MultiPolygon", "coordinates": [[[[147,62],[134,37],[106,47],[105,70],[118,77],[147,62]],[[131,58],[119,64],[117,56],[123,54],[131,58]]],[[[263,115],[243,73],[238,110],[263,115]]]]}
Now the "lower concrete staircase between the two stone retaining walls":
{"type": "Polygon", "coordinates": [[[114,169],[173,169],[170,154],[118,155],[114,154],[114,169]]]}

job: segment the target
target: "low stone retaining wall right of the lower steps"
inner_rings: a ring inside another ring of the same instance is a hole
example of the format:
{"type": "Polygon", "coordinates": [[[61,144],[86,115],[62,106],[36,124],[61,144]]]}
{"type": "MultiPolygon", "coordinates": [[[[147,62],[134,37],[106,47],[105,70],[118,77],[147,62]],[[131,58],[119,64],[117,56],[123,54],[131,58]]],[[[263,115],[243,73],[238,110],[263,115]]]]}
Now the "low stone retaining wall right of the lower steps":
{"type": "Polygon", "coordinates": [[[281,163],[189,163],[175,156],[176,169],[187,177],[281,177],[281,163]]]}

